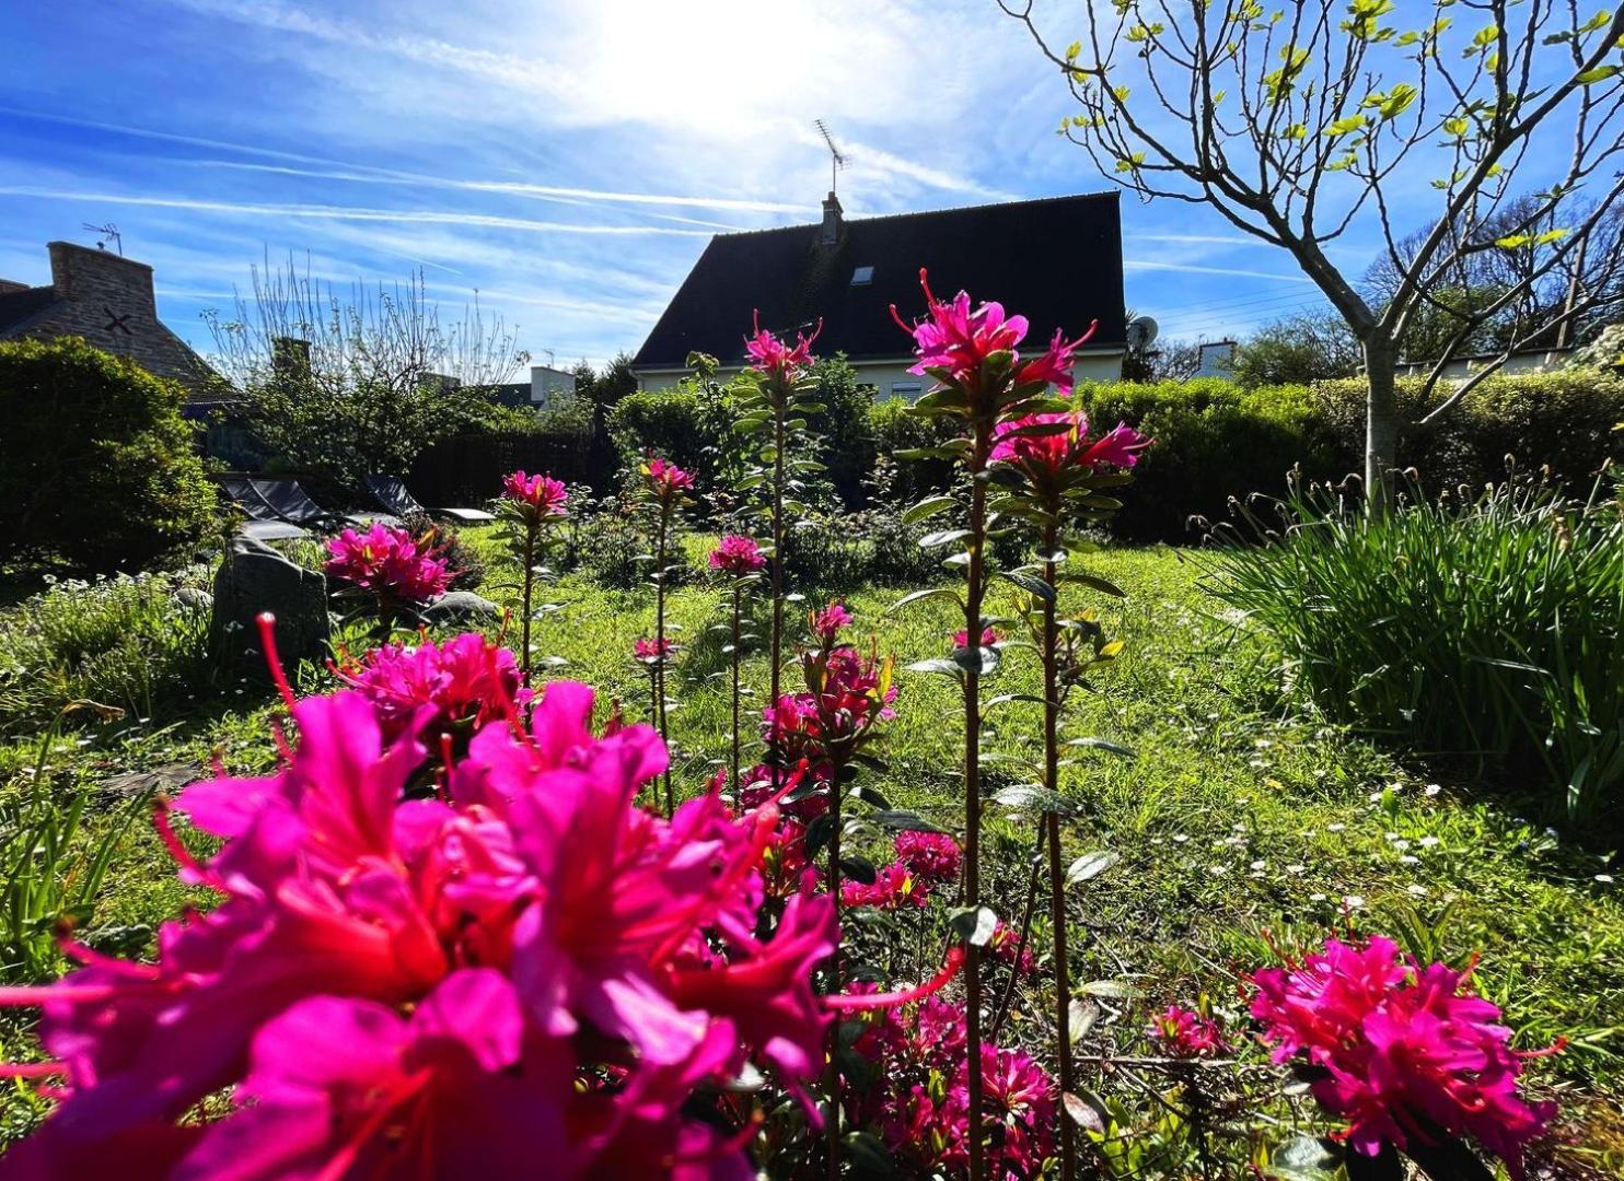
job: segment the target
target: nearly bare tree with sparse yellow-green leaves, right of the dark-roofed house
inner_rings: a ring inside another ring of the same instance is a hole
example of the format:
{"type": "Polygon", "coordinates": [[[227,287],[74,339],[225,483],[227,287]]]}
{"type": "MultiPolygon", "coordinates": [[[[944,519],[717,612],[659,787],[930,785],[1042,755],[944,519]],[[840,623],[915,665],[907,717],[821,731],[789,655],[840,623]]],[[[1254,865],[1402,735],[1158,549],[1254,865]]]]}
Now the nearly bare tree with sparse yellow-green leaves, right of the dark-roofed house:
{"type": "MultiPolygon", "coordinates": [[[[1528,282],[1564,269],[1582,276],[1592,232],[1624,191],[1624,10],[1431,0],[1406,3],[1408,28],[1398,28],[1393,0],[1268,8],[1259,0],[1114,0],[1083,5],[1082,39],[1056,50],[1034,3],[999,0],[1062,71],[1082,107],[1062,131],[1101,172],[1147,200],[1210,204],[1289,251],[1346,320],[1369,376],[1372,498],[1385,493],[1393,464],[1393,367],[1411,320],[1476,255],[1525,251],[1527,264],[1522,281],[1462,315],[1462,339],[1528,282]],[[1523,187],[1541,188],[1507,225],[1497,217],[1525,172],[1523,187]],[[1424,237],[1402,250],[1395,221],[1408,227],[1427,206],[1424,237]],[[1380,305],[1328,253],[1372,225],[1398,276],[1380,305]],[[1489,237],[1489,225],[1505,232],[1489,237]]],[[[1556,315],[1583,315],[1598,295],[1575,279],[1556,315]]],[[[1427,393],[1445,362],[1439,357],[1427,375],[1427,393]]],[[[1426,417],[1457,404],[1492,368],[1426,417]]]]}

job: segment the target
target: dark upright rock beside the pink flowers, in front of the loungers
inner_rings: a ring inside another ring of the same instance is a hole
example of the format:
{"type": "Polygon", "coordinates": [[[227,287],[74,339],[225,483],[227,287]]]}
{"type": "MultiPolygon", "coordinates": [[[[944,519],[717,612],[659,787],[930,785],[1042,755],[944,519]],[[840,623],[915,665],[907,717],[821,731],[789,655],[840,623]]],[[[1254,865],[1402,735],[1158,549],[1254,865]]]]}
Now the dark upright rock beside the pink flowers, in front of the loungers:
{"type": "Polygon", "coordinates": [[[276,616],[276,649],[284,668],[299,660],[326,659],[331,634],[326,578],[289,561],[265,542],[234,537],[214,576],[209,636],[227,667],[250,675],[265,673],[255,623],[260,612],[276,616]]]}

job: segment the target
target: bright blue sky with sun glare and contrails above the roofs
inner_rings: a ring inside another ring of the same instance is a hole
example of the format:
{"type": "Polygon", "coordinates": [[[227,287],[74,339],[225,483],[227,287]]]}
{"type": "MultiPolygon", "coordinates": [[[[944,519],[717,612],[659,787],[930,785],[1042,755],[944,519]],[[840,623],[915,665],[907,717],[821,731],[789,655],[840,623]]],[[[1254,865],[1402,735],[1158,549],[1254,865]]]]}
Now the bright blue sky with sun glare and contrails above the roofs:
{"type": "MultiPolygon", "coordinates": [[[[992,0],[76,0],[0,8],[0,277],[114,222],[203,350],[201,311],[289,251],[477,292],[538,360],[635,350],[710,234],[815,219],[814,118],[849,216],[1109,188],[992,0]]],[[[1210,211],[1122,208],[1166,336],[1315,302],[1210,211]]]]}

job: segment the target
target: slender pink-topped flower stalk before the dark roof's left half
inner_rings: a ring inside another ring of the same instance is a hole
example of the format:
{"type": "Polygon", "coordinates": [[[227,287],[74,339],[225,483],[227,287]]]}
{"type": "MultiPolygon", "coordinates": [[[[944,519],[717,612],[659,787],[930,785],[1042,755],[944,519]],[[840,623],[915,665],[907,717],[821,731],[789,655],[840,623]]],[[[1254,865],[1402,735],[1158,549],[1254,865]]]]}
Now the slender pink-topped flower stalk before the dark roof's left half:
{"type": "MultiPolygon", "coordinates": [[[[741,490],[768,485],[768,516],[771,522],[771,581],[773,581],[773,621],[768,639],[771,672],[768,701],[778,701],[783,691],[784,664],[784,513],[797,508],[794,493],[799,492],[799,472],[815,470],[815,462],[809,459],[793,459],[791,444],[799,441],[802,430],[801,414],[820,410],[823,407],[804,401],[804,394],[812,388],[809,371],[812,368],[812,342],[823,331],[823,321],[812,329],[812,336],[796,334],[791,346],[762,328],[760,315],[752,323],[754,334],[745,337],[744,347],[750,357],[745,370],[745,383],[739,389],[737,404],[744,412],[739,419],[739,430],[765,433],[767,443],[758,453],[760,467],[750,474],[739,487],[741,490]]],[[[778,751],[768,753],[773,767],[773,785],[783,775],[783,756],[778,751]]]]}

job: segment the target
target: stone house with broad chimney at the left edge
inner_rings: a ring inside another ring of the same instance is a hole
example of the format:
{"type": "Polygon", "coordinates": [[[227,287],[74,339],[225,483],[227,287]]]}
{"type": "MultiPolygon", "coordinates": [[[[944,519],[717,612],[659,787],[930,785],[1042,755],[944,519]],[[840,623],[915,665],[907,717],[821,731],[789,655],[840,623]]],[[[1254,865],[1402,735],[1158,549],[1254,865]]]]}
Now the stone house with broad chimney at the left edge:
{"type": "Polygon", "coordinates": [[[101,248],[52,242],[50,284],[0,279],[0,341],[83,336],[206,399],[219,378],[158,318],[153,268],[101,248]]]}

